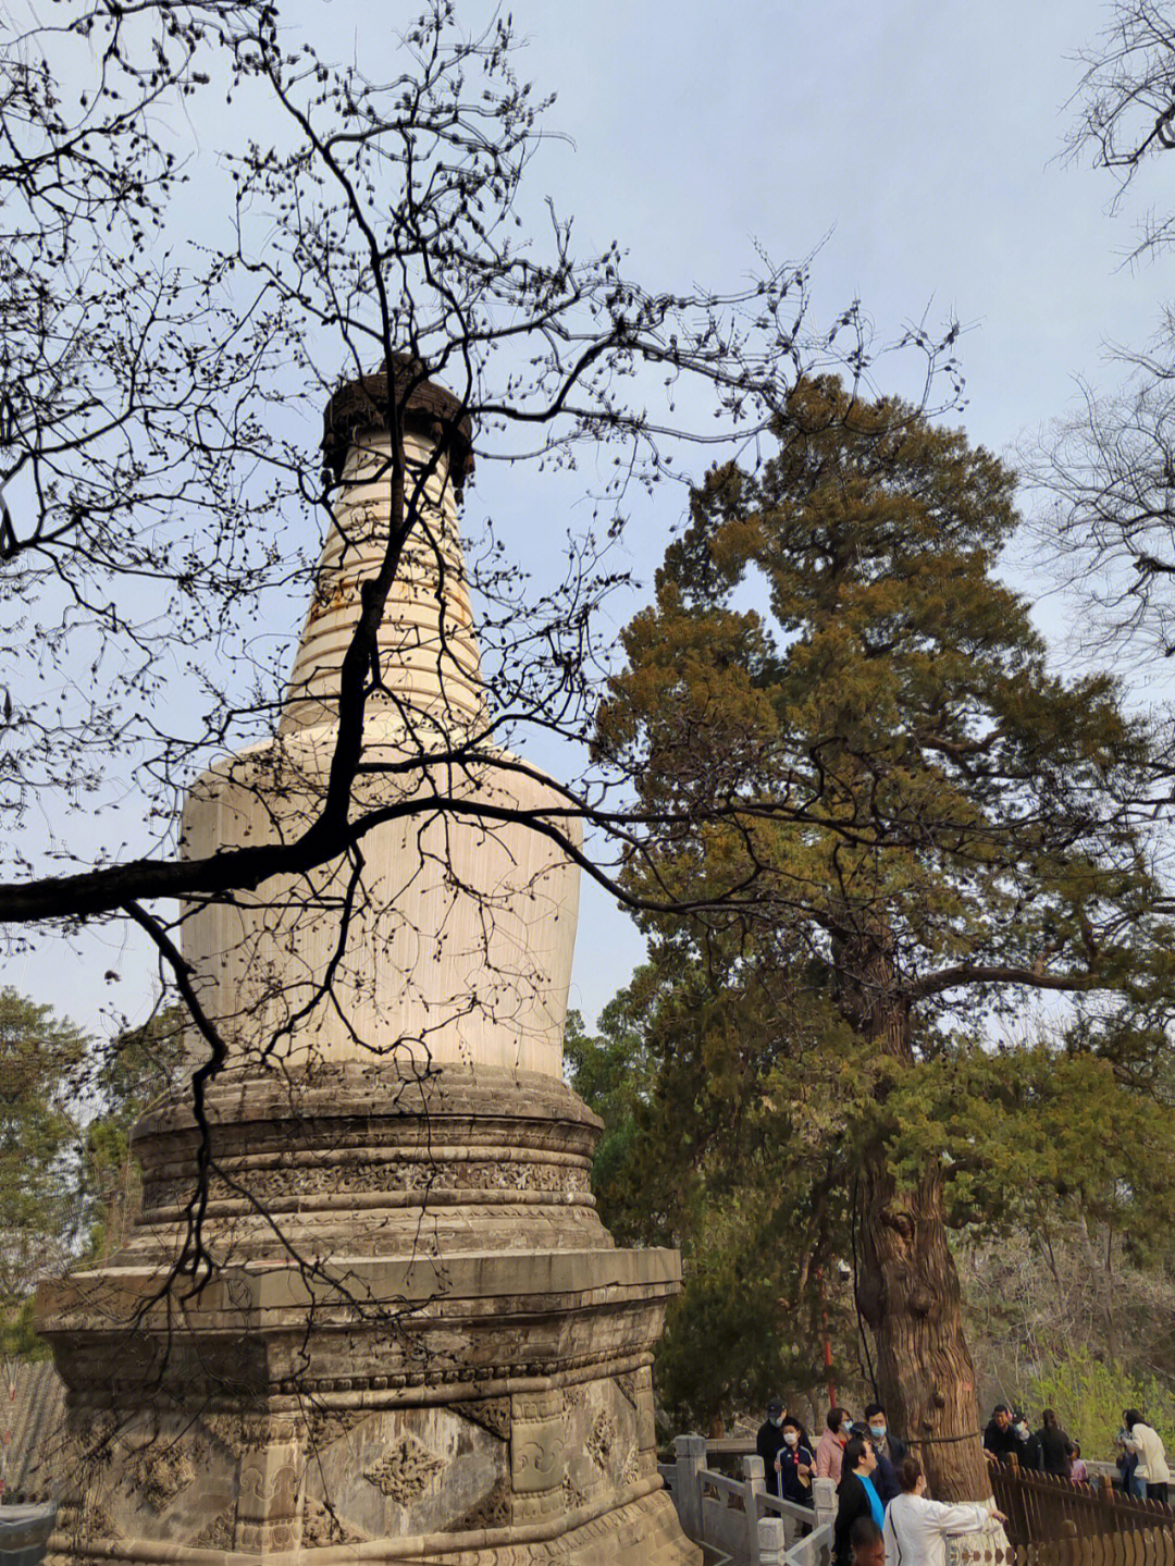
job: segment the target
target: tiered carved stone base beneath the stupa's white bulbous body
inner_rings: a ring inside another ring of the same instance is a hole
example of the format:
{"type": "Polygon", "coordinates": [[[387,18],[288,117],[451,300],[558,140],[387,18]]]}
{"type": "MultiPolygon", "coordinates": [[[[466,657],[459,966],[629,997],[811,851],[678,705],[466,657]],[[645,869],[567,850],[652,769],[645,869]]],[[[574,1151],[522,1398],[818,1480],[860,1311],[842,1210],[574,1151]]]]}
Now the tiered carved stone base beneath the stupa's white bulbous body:
{"type": "Polygon", "coordinates": [[[391,1065],[228,1073],[205,1236],[161,1295],[196,1129],[144,1121],[144,1211],[41,1298],[69,1387],[50,1560],[685,1566],[654,1450],[673,1251],[595,1214],[559,1081],[391,1065]]]}

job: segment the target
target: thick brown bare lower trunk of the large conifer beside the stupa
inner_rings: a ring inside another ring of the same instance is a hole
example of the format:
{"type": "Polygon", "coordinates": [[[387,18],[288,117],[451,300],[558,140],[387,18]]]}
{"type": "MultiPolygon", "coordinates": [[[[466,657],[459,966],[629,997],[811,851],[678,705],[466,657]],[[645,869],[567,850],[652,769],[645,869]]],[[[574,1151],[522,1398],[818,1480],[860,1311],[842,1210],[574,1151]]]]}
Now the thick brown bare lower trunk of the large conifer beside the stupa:
{"type": "Polygon", "coordinates": [[[936,1500],[987,1500],[975,1369],[937,1167],[912,1190],[898,1190],[881,1149],[867,1156],[859,1247],[857,1303],[876,1340],[890,1425],[922,1461],[936,1500]]]}

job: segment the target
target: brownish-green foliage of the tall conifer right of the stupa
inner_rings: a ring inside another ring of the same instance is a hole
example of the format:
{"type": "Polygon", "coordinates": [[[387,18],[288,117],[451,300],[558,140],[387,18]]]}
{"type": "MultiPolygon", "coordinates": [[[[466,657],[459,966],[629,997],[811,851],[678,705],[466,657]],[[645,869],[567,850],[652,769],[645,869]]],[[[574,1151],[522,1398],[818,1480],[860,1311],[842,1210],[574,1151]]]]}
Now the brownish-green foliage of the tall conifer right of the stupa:
{"type": "MultiPolygon", "coordinates": [[[[599,1193],[684,1248],[662,1392],[693,1419],[818,1380],[865,1167],[906,1193],[932,1171],[953,1225],[1130,1209],[1141,1247],[1175,1189],[1152,736],[1111,677],[1050,670],[1000,579],[1014,474],[834,379],[774,435],[693,493],[598,723],[651,824],[599,1193]],[[696,915],[657,913],[667,889],[696,915]],[[1000,1041],[1033,991],[1061,998],[1048,1040],[1000,1041]]],[[[843,1353],[856,1322],[832,1326],[843,1353]]]]}

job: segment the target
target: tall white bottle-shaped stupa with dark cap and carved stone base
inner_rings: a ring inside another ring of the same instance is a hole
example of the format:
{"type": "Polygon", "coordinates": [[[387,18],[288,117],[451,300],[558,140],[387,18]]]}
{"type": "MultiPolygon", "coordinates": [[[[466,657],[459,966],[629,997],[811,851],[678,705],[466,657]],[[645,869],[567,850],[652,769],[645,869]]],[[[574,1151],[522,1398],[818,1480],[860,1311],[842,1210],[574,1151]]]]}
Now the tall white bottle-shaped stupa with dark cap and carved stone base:
{"type": "MultiPolygon", "coordinates": [[[[388,537],[383,392],[332,399],[346,489],[277,733],[196,785],[189,855],[294,841],[318,814],[388,537]]],[[[457,531],[468,432],[440,388],[413,396],[407,443],[410,482],[435,473],[380,628],[358,788],[388,819],[361,864],[185,922],[228,1045],[202,1220],[217,1268],[160,1297],[199,1146],[172,1102],[136,1134],[127,1247],[41,1298],[69,1386],[63,1566],[698,1560],[657,1477],[649,1381],[679,1261],[615,1250],[595,1212],[599,1123],[562,1081],[577,871],[541,830],[555,785],[485,736],[457,531]]]]}

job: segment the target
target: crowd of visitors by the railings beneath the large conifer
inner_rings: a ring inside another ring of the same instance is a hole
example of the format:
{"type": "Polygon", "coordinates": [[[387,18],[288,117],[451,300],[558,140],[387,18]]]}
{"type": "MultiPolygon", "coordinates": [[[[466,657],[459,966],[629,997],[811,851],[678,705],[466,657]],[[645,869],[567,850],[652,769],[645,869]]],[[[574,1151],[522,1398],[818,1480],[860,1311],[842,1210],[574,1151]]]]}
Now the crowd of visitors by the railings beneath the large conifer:
{"type": "MultiPolygon", "coordinates": [[[[756,1449],[770,1492],[795,1505],[812,1505],[814,1478],[832,1480],[834,1566],[943,1566],[948,1535],[981,1528],[992,1516],[1006,1521],[986,1505],[931,1500],[922,1464],[892,1433],[881,1403],[870,1403],[861,1423],[848,1409],[831,1408],[825,1425],[812,1442],[803,1420],[773,1398],[756,1449]]],[[[1019,1409],[997,1403],[983,1445],[989,1463],[1014,1461],[1075,1485],[1089,1481],[1080,1444],[1070,1441],[1051,1408],[1033,1431],[1019,1409]]],[[[1122,1416],[1117,1445],[1123,1489],[1166,1505],[1170,1475],[1162,1439],[1136,1408],[1122,1416]]]]}

